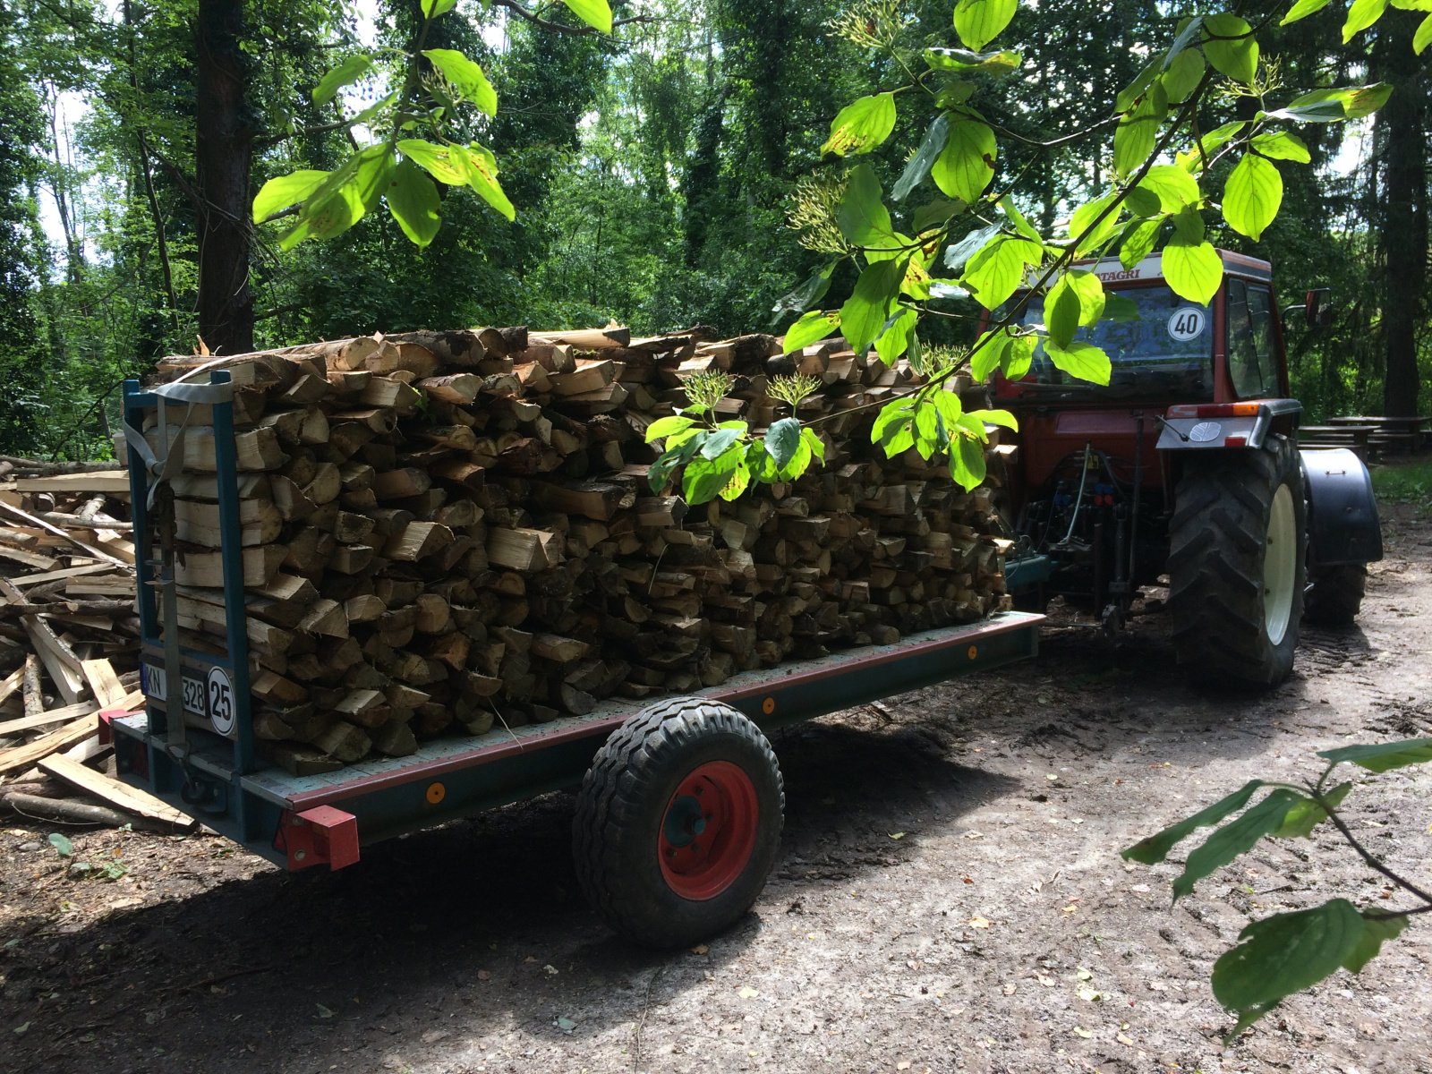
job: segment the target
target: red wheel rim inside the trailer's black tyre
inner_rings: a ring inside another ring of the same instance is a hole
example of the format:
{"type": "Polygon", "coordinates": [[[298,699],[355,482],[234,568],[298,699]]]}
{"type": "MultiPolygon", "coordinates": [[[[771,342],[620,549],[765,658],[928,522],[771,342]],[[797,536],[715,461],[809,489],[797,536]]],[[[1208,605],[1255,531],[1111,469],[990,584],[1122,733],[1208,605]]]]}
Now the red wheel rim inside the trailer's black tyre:
{"type": "Polygon", "coordinates": [[[693,769],[666,803],[657,859],[667,885],[684,899],[713,899],[745,871],[756,849],[760,806],[739,766],[710,760],[693,769]]]}

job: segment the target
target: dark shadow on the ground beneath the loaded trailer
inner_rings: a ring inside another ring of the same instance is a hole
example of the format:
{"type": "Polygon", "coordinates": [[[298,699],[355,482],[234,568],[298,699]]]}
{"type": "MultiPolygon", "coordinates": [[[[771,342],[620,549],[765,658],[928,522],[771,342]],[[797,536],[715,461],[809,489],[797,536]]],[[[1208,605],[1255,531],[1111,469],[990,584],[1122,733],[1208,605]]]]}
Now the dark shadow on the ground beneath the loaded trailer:
{"type": "MultiPolygon", "coordinates": [[[[915,729],[831,723],[778,739],[782,858],[832,831],[859,842],[931,796],[952,816],[1015,785],[954,763],[915,729]]],[[[4,1034],[0,1068],[69,1074],[80,1053],[156,1074],[401,1068],[410,1055],[421,1068],[464,1048],[475,1063],[478,1042],[517,1032],[576,1041],[637,1024],[780,925],[750,914],[700,954],[616,939],[579,891],[573,802],[547,795],[390,841],[337,874],[265,871],[198,894],[183,892],[222,875],[211,862],[229,852],[225,841],[156,856],[158,875],[139,862],[137,878],[176,894],[76,929],[63,916],[19,922],[4,1028],[27,1030],[4,1034]]],[[[838,866],[858,876],[889,863],[842,853],[838,866]]],[[[790,884],[780,884],[783,898],[790,884]]]]}

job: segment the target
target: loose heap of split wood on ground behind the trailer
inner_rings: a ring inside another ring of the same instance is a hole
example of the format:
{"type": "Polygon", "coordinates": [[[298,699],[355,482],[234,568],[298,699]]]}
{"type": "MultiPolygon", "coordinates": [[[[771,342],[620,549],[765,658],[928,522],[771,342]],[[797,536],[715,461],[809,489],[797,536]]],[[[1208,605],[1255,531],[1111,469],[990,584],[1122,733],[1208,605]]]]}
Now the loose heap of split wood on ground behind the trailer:
{"type": "Polygon", "coordinates": [[[102,709],[136,710],[129,475],[0,458],[0,803],[60,822],[188,821],[102,770],[102,709]]]}

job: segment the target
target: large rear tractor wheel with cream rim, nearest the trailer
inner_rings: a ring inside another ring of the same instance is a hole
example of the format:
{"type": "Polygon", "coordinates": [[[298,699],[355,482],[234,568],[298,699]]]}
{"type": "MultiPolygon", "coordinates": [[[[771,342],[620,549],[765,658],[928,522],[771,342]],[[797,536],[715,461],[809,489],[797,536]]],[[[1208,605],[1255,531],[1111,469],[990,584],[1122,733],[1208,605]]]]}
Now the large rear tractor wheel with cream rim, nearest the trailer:
{"type": "Polygon", "coordinates": [[[1292,441],[1187,460],[1169,534],[1169,619],[1196,679],[1263,689],[1293,670],[1306,528],[1292,441]]]}

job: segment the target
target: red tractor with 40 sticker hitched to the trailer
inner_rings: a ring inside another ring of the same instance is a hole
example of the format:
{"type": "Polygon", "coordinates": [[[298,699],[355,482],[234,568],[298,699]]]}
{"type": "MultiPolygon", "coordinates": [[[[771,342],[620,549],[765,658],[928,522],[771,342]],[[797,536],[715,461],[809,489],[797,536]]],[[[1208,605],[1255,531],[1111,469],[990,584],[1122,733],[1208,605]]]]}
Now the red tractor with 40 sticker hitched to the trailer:
{"type": "MultiPolygon", "coordinates": [[[[1080,329],[1110,357],[1107,387],[1061,372],[1042,347],[1025,378],[997,378],[998,405],[1020,418],[1008,576],[1017,596],[1061,594],[1117,627],[1138,587],[1167,574],[1179,663],[1266,687],[1292,670],[1300,619],[1353,620],[1382,533],[1362,460],[1297,448],[1272,266],[1220,256],[1209,305],[1169,288],[1160,255],[1080,265],[1128,299],[1120,319],[1080,329]]],[[[1307,295],[1310,325],[1325,302],[1307,295]]],[[[1044,321],[1041,296],[1022,319],[1044,321]]]]}

